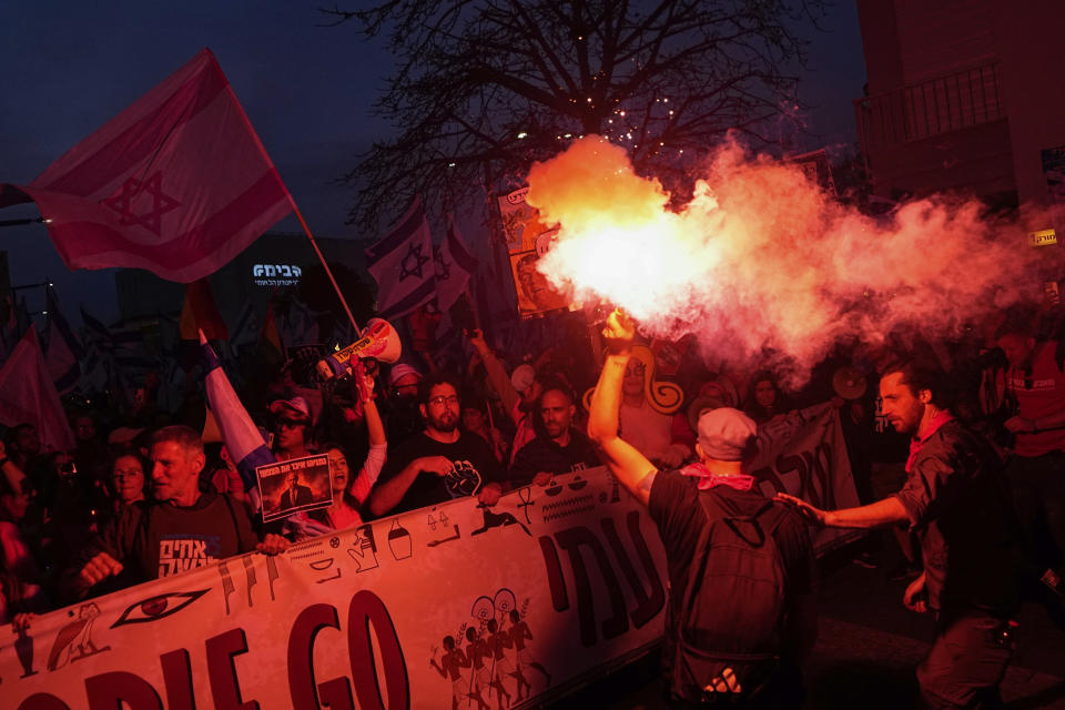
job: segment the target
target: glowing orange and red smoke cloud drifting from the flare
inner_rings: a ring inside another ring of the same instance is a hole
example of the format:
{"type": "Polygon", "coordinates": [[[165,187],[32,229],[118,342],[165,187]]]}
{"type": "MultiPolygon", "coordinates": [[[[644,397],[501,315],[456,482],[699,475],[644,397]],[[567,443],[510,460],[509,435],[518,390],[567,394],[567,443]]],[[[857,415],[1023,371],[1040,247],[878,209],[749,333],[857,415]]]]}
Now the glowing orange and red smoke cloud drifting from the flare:
{"type": "Polygon", "coordinates": [[[978,202],[933,197],[874,219],[736,143],[677,211],[595,135],[534,165],[528,183],[529,204],[559,226],[539,262],[556,287],[625,307],[651,336],[694,333],[729,362],[774,352],[799,379],[841,337],[876,344],[903,323],[954,334],[1038,285],[1025,232],[982,219],[978,202]]]}

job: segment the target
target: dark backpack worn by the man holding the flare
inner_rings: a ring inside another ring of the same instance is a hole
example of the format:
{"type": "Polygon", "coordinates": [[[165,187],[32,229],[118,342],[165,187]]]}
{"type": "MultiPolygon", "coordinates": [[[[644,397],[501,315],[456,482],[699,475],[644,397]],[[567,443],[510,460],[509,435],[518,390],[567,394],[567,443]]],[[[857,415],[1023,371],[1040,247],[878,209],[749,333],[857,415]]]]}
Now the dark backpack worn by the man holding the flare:
{"type": "Polygon", "coordinates": [[[674,699],[688,702],[721,698],[703,689],[726,668],[740,682],[736,699],[751,698],[780,665],[784,566],[773,531],[788,511],[767,500],[754,515],[734,516],[721,496],[699,491],[707,525],[673,617],[667,683],[674,699]]]}

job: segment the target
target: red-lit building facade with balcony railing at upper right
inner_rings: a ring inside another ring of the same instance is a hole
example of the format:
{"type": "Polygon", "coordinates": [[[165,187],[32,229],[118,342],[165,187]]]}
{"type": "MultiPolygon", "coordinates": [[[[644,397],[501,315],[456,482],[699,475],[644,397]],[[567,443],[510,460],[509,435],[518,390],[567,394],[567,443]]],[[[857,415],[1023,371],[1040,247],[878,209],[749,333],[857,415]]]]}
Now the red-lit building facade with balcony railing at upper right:
{"type": "Polygon", "coordinates": [[[868,84],[854,110],[878,195],[956,191],[1022,213],[1065,203],[1065,2],[858,0],[858,10],[868,84]]]}

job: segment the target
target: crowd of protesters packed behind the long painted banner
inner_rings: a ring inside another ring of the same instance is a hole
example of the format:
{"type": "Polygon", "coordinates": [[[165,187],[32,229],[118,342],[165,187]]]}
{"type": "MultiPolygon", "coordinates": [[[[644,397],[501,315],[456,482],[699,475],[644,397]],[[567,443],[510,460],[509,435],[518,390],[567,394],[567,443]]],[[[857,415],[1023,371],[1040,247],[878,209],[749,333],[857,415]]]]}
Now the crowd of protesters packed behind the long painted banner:
{"type": "MultiPolygon", "coordinates": [[[[1061,310],[1018,306],[946,339],[896,328],[880,343],[841,344],[798,389],[772,354],[744,372],[718,366],[698,344],[674,347],[669,367],[650,347],[636,347],[621,384],[621,435],[651,464],[672,469],[696,459],[706,409],[741,409],[761,427],[835,397],[859,497],[871,504],[903,488],[912,456],[907,434],[889,426],[880,408],[880,376],[903,359],[932,362],[954,385],[950,410],[1006,467],[1023,591],[1065,628],[1061,310]],[[861,374],[864,392],[833,389],[843,367],[861,374]],[[651,406],[652,378],[683,392],[676,414],[651,406]]],[[[541,352],[501,353],[479,331],[467,331],[439,358],[446,364],[407,352],[399,363],[366,362],[365,372],[328,383],[297,382],[290,362],[268,383],[242,392],[278,460],[328,456],[333,503],[304,516],[304,525],[262,523],[256,495],[221,437],[205,428],[204,398],[194,389],[173,413],[154,405],[153,378],[132,415],[82,402],[69,412],[72,450],[42,450],[32,424],[10,427],[0,444],[0,621],[229,555],[275,554],[307,535],[463,495],[491,506],[508,490],[598,465],[585,405],[598,377],[595,344],[587,329],[559,333],[541,352]],[[179,550],[205,531],[214,540],[207,549],[179,550]]],[[[855,548],[854,558],[897,562],[890,575],[913,578],[925,562],[913,526],[896,523],[890,535],[855,548]]]]}

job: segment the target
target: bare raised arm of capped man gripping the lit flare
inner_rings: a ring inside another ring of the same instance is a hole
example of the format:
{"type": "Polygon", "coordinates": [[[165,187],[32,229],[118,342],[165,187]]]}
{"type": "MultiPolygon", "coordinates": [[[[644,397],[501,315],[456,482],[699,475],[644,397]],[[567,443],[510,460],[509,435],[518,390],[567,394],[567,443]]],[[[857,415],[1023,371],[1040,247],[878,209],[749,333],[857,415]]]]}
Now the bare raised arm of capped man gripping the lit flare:
{"type": "Polygon", "coordinates": [[[602,331],[610,346],[607,349],[599,384],[591,395],[588,413],[588,437],[599,449],[604,463],[625,488],[647,505],[651,484],[658,473],[655,465],[631,444],[618,436],[618,412],[621,407],[621,383],[629,362],[636,326],[620,311],[607,318],[602,331]]]}

